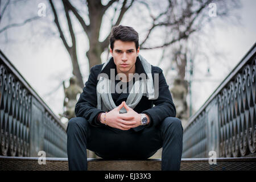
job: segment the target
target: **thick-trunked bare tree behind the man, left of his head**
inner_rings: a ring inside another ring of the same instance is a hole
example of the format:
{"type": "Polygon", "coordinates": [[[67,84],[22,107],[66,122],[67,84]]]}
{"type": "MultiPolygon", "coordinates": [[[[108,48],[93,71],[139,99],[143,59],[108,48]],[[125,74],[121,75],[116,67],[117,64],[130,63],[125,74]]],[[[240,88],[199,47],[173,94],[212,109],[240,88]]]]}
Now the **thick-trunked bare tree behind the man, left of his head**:
{"type": "MultiPolygon", "coordinates": [[[[102,18],[106,11],[113,6],[114,3],[119,3],[117,0],[111,0],[106,5],[102,5],[102,2],[100,0],[93,0],[93,1],[86,1],[86,6],[88,7],[88,19],[89,22],[86,22],[84,18],[82,18],[82,15],[80,14],[79,10],[76,9],[75,6],[71,4],[68,0],[62,0],[63,7],[65,10],[65,15],[68,22],[68,28],[72,39],[72,46],[68,46],[67,40],[64,37],[63,30],[61,30],[58,14],[55,9],[55,5],[52,0],[49,0],[49,3],[52,7],[52,12],[55,17],[55,24],[57,26],[57,29],[60,32],[60,38],[63,40],[63,44],[65,48],[67,49],[69,55],[71,56],[72,65],[73,65],[73,75],[75,75],[78,78],[79,85],[81,87],[84,86],[84,82],[82,81],[82,75],[79,68],[79,63],[77,59],[77,53],[76,53],[76,36],[73,31],[72,27],[72,21],[70,18],[70,13],[73,13],[73,15],[76,16],[77,20],[82,26],[82,29],[84,30],[84,33],[87,35],[87,38],[89,40],[89,50],[86,52],[86,56],[89,60],[89,68],[92,68],[96,64],[101,64],[101,53],[104,52],[106,48],[109,46],[109,40],[108,37],[100,42],[100,28],[102,24],[102,18]]],[[[112,26],[118,25],[123,15],[126,13],[128,9],[133,5],[134,0],[127,1],[124,0],[121,2],[121,9],[119,10],[118,18],[115,22],[113,22],[112,18],[112,26]]],[[[117,9],[115,8],[115,13],[117,13],[117,9]]],[[[114,14],[115,15],[115,14],[114,14]]]]}

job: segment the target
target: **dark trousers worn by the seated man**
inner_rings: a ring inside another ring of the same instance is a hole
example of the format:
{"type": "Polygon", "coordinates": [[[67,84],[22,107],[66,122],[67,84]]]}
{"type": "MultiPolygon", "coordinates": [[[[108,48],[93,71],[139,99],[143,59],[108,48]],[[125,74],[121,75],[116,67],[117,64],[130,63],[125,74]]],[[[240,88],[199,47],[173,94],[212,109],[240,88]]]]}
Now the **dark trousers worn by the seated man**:
{"type": "Polygon", "coordinates": [[[87,170],[86,148],[104,159],[147,159],[161,147],[162,170],[179,170],[183,127],[178,118],[167,117],[159,126],[141,131],[94,127],[85,118],[72,118],[67,127],[69,170],[87,170]]]}

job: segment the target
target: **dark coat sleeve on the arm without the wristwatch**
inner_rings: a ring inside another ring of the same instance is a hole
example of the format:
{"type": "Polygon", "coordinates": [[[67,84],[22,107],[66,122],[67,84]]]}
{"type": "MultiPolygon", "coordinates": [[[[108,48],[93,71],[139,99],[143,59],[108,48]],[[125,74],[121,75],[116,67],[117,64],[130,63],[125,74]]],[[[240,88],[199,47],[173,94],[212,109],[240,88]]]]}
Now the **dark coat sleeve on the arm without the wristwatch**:
{"type": "Polygon", "coordinates": [[[100,68],[100,65],[95,65],[90,69],[88,81],[85,82],[85,86],[82,89],[82,93],[80,94],[80,98],[75,107],[76,117],[85,118],[92,126],[103,125],[96,122],[98,114],[104,112],[101,109],[97,109],[96,86],[97,75],[101,71],[100,68]]]}

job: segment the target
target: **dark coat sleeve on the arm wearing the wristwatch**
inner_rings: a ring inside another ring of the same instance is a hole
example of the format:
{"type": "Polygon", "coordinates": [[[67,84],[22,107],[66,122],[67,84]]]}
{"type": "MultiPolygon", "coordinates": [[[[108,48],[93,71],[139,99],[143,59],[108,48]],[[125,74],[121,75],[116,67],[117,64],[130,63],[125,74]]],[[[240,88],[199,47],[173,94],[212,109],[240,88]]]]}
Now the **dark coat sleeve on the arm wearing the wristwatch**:
{"type": "MultiPolygon", "coordinates": [[[[152,73],[159,74],[159,95],[158,98],[153,101],[153,104],[155,105],[154,107],[142,111],[142,113],[147,114],[150,117],[150,124],[148,127],[159,125],[167,117],[176,117],[176,108],[172,101],[171,92],[167,85],[166,78],[164,78],[163,70],[159,67],[154,68],[154,72],[152,71],[152,73]]],[[[154,74],[152,76],[154,79],[154,74]]]]}

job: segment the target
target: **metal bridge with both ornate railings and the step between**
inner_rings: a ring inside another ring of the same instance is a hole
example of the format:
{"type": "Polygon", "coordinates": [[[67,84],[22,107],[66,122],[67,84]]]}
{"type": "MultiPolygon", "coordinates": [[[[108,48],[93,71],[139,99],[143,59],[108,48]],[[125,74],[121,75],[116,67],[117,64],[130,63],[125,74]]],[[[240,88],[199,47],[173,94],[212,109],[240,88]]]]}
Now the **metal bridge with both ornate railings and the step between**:
{"type": "MultiPolygon", "coordinates": [[[[181,170],[256,170],[255,67],[256,44],[189,119],[181,170]]],[[[65,126],[1,51],[0,122],[0,171],[68,169],[65,126]],[[38,163],[39,151],[47,165],[38,163]]],[[[160,163],[88,159],[88,169],[150,171],[160,163]]]]}

